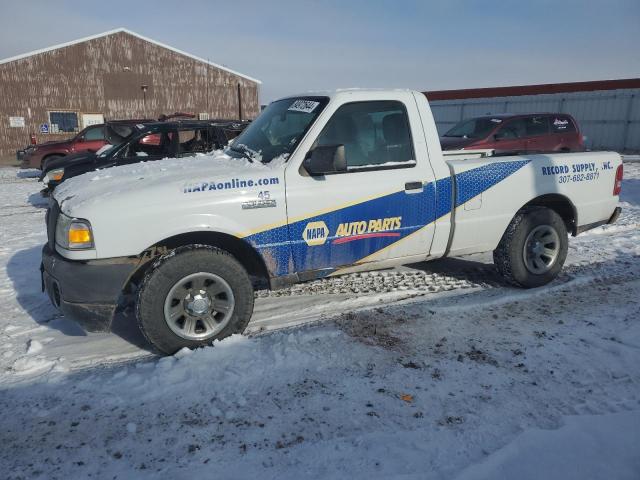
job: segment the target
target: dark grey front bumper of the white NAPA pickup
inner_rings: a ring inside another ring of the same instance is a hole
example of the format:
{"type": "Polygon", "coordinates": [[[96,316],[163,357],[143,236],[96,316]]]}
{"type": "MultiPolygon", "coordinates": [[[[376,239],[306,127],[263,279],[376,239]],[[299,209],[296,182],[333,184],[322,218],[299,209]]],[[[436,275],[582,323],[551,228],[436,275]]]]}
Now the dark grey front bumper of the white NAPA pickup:
{"type": "Polygon", "coordinates": [[[42,290],[65,317],[89,332],[111,329],[122,291],[138,265],[136,258],[67,260],[45,245],[42,249],[42,290]]]}

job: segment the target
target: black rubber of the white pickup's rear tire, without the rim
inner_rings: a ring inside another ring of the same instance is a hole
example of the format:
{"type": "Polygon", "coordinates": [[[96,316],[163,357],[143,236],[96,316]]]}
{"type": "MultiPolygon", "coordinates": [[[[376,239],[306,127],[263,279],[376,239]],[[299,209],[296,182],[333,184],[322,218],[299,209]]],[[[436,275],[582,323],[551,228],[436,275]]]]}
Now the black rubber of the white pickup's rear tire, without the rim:
{"type": "Polygon", "coordinates": [[[567,249],[567,226],[560,215],[549,208],[528,207],[511,220],[493,251],[493,263],[509,283],[523,288],[540,287],[558,276],[567,258],[567,249]],[[544,267],[548,268],[546,271],[536,273],[532,271],[531,261],[525,258],[525,243],[536,229],[545,227],[550,227],[557,234],[557,254],[546,257],[549,259],[549,264],[544,267]]]}

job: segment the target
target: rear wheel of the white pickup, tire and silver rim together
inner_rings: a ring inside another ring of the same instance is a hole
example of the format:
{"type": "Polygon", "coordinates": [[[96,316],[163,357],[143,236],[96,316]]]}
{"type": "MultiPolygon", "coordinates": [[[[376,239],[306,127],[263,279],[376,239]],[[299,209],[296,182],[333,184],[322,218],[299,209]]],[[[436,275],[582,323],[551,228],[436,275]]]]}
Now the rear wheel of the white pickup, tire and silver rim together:
{"type": "Polygon", "coordinates": [[[549,208],[531,207],[511,220],[493,252],[493,262],[508,282],[540,287],[558,276],[567,249],[567,227],[560,215],[549,208]]]}

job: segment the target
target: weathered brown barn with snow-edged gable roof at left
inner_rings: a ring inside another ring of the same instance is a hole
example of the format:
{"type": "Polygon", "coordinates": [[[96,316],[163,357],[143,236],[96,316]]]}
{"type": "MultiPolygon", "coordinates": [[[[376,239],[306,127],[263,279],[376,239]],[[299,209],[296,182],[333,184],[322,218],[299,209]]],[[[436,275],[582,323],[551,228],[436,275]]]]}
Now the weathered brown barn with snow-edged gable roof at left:
{"type": "Polygon", "coordinates": [[[104,120],[252,119],[260,81],[124,28],[0,60],[0,159],[104,120]]]}

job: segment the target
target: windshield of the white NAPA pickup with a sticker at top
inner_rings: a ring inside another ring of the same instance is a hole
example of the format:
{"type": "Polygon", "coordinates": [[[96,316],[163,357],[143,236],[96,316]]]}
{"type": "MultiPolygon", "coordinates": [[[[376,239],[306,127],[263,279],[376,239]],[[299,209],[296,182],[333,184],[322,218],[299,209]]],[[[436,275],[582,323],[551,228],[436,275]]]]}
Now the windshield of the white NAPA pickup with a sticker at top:
{"type": "Polygon", "coordinates": [[[263,163],[281,155],[288,157],[328,101],[327,97],[298,97],[273,102],[234,140],[227,153],[263,163]]]}

